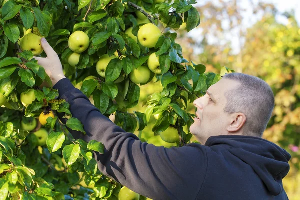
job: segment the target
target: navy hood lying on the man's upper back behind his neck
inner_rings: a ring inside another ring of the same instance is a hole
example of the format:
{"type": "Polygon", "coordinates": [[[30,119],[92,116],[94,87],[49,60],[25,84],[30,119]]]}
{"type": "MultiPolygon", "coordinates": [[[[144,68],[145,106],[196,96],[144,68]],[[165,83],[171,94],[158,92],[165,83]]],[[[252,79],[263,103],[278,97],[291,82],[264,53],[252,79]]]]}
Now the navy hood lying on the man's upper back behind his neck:
{"type": "Polygon", "coordinates": [[[251,136],[222,135],[209,137],[205,146],[221,145],[234,156],[249,164],[276,196],[283,191],[282,178],[289,171],[291,156],[276,144],[251,136]]]}

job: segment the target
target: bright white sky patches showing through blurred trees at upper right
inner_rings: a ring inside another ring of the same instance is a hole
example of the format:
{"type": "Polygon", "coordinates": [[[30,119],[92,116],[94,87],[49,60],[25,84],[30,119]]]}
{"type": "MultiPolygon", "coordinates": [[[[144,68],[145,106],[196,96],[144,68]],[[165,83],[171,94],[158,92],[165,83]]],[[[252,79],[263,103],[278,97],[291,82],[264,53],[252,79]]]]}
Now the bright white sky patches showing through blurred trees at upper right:
{"type": "MultiPolygon", "coordinates": [[[[212,1],[212,2],[218,2],[219,0],[197,0],[196,6],[201,6],[205,4],[207,1],[212,1]]],[[[224,0],[224,1],[230,1],[230,0],[224,0]]],[[[251,27],[253,24],[257,22],[261,18],[261,16],[257,16],[256,18],[253,17],[252,15],[252,7],[249,3],[250,0],[237,0],[239,5],[241,5],[246,11],[243,13],[243,27],[248,28],[251,27]]],[[[298,21],[298,24],[300,24],[300,0],[251,0],[253,3],[257,4],[259,2],[264,2],[264,3],[272,3],[275,5],[277,10],[280,13],[284,12],[289,12],[289,11],[294,11],[295,13],[295,18],[298,21]]],[[[200,13],[201,16],[201,13],[200,13]]],[[[279,23],[286,24],[287,19],[283,16],[277,16],[276,20],[279,23]]],[[[201,27],[201,24],[198,26],[199,28],[201,27]]],[[[193,37],[194,39],[201,40],[201,29],[193,29],[188,33],[189,36],[193,37]]],[[[228,39],[231,40],[232,43],[232,49],[233,49],[233,54],[237,54],[240,51],[239,48],[239,40],[236,39],[238,37],[238,32],[232,30],[229,34],[225,35],[228,39]]],[[[208,42],[213,43],[213,42],[219,42],[216,41],[215,38],[209,37],[208,42]]],[[[195,53],[201,53],[201,49],[195,49],[195,53]]]]}

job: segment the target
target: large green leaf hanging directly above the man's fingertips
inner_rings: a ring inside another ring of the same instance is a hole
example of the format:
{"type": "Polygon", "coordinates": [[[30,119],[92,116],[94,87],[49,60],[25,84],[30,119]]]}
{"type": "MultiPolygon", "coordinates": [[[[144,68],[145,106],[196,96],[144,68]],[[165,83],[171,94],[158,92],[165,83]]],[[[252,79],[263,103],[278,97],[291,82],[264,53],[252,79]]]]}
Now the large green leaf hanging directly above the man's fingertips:
{"type": "Polygon", "coordinates": [[[41,35],[48,36],[52,25],[51,17],[41,12],[37,7],[32,7],[37,21],[37,27],[41,35]]]}

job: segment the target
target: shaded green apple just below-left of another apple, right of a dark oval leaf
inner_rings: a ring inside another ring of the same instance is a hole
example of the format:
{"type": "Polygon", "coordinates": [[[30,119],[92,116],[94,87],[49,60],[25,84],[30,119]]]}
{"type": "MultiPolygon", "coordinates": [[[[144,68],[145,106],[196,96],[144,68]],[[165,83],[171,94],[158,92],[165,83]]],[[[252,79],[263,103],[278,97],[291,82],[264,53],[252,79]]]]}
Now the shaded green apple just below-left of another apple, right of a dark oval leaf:
{"type": "Polygon", "coordinates": [[[144,84],[148,82],[151,77],[151,71],[147,66],[140,66],[133,69],[129,74],[130,80],[135,84],[144,84]]]}

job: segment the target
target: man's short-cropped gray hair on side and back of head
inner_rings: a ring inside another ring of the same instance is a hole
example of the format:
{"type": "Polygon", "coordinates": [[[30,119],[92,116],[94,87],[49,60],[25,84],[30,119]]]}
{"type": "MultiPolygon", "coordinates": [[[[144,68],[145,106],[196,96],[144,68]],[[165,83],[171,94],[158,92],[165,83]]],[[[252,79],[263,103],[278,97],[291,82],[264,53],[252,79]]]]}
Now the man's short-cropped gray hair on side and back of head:
{"type": "Polygon", "coordinates": [[[224,112],[242,112],[247,120],[243,135],[262,137],[272,116],[275,99],[271,87],[262,79],[244,73],[229,73],[224,79],[235,80],[240,85],[225,93],[227,104],[224,112]]]}

